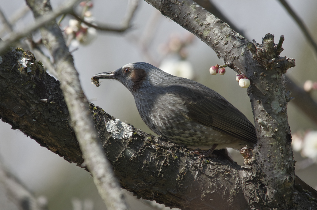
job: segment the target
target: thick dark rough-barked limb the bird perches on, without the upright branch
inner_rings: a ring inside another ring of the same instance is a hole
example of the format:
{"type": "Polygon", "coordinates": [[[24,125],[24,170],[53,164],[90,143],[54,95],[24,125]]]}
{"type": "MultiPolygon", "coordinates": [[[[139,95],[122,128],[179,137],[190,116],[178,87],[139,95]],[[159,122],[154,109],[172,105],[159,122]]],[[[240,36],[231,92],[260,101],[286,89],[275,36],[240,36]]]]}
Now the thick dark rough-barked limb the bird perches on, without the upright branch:
{"type": "MultiPolygon", "coordinates": [[[[2,120],[81,166],[81,151],[69,126],[59,82],[43,71],[29,51],[17,49],[2,57],[0,78],[2,120]],[[23,57],[30,59],[25,68],[19,63],[23,57]]],[[[187,149],[122,123],[98,106],[90,106],[115,175],[123,188],[139,198],[182,209],[267,208],[264,202],[259,206],[252,200],[253,196],[266,196],[257,178],[262,178],[258,176],[261,170],[241,168],[220,158],[197,161],[187,149]],[[258,173],[250,174],[249,170],[258,173]]],[[[314,208],[316,200],[307,192],[301,188],[294,192],[294,208],[314,208]],[[300,203],[303,200],[305,203],[300,203]]]]}

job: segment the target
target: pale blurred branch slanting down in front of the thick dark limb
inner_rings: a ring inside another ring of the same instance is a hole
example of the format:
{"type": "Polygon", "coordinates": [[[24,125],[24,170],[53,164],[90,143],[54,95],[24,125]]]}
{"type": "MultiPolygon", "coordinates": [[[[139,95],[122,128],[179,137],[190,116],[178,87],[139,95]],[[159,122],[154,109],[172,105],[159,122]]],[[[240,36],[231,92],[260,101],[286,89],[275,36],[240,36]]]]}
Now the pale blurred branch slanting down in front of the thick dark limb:
{"type": "MultiPolygon", "coordinates": [[[[36,19],[52,14],[49,2],[27,1],[36,19]]],[[[72,9],[72,7],[69,7],[72,9]]],[[[52,21],[40,29],[45,47],[55,60],[55,68],[61,82],[71,124],[79,142],[84,164],[93,175],[94,183],[108,209],[127,209],[123,191],[108,162],[90,120],[89,106],[81,88],[78,73],[74,67],[73,57],[68,51],[63,35],[57,23],[52,21]]]]}

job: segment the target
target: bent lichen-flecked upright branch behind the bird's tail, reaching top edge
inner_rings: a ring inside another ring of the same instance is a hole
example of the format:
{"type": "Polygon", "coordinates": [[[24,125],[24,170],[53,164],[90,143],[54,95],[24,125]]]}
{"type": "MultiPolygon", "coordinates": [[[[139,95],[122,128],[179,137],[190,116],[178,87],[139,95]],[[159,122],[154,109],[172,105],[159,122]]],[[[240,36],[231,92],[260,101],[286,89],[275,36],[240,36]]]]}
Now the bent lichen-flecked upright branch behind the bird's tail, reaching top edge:
{"type": "Polygon", "coordinates": [[[209,45],[230,68],[244,73],[251,80],[248,94],[259,146],[253,150],[252,163],[246,162],[246,165],[252,165],[249,169],[261,169],[263,174],[257,174],[257,177],[266,179],[262,184],[269,195],[265,197],[265,204],[264,200],[258,204],[272,208],[289,208],[295,177],[286,111],[289,94],[283,86],[282,74],[295,66],[294,59],[279,57],[281,50],[276,48],[273,35],[267,34],[262,44],[248,42],[226,23],[192,1],[147,2],[191,31],[209,45]],[[266,126],[263,127],[260,123],[266,126]]]}

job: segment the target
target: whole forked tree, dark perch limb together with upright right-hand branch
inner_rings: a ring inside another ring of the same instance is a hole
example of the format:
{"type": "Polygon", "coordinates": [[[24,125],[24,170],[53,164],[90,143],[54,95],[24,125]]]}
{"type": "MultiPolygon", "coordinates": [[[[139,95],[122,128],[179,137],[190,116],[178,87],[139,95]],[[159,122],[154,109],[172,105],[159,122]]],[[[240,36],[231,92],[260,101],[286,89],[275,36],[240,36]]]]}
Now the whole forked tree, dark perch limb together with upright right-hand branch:
{"type": "MultiPolygon", "coordinates": [[[[282,85],[282,74],[294,60],[279,57],[281,50],[271,35],[262,45],[248,42],[192,1],[150,3],[201,38],[236,72],[247,75],[259,146],[243,167],[220,158],[197,161],[185,148],[134,129],[90,104],[121,186],[138,197],[182,209],[316,209],[316,200],[294,185],[289,94],[282,85]]],[[[2,120],[80,166],[80,148],[58,81],[31,53],[21,50],[2,57],[0,78],[2,120]],[[30,58],[27,67],[18,62],[23,57],[30,58]]]]}

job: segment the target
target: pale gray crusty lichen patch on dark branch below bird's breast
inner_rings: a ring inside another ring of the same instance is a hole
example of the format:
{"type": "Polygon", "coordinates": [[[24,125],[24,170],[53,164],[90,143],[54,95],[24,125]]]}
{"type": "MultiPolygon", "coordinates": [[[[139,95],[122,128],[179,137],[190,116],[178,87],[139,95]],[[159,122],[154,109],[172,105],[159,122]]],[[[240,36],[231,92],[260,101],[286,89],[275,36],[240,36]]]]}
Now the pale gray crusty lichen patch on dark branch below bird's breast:
{"type": "Polygon", "coordinates": [[[106,129],[111,133],[111,137],[116,139],[130,138],[133,135],[132,126],[121,122],[119,119],[109,120],[106,129]]]}

